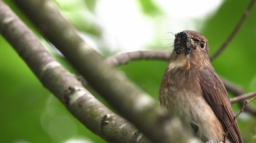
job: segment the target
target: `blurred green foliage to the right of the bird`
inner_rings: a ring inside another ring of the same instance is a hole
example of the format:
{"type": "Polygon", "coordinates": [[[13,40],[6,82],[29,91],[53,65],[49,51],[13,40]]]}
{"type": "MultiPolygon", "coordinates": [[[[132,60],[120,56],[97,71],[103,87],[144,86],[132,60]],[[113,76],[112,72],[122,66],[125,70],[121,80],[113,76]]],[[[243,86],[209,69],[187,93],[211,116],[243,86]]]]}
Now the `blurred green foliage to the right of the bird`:
{"type": "MultiPolygon", "coordinates": [[[[248,3],[249,0],[226,0],[217,13],[211,16],[204,24],[202,33],[209,41],[209,55],[214,53],[229,36],[238,20],[241,18],[248,3]]],[[[214,69],[219,75],[241,85],[246,92],[256,90],[256,46],[253,43],[256,39],[255,17],[256,9],[254,7],[232,42],[225,51],[212,62],[214,69]]],[[[254,101],[251,104],[256,105],[256,102],[254,101]]],[[[239,107],[233,106],[233,109],[235,112],[238,112],[239,107]]],[[[238,120],[238,123],[244,142],[255,143],[255,117],[238,120]]]]}

